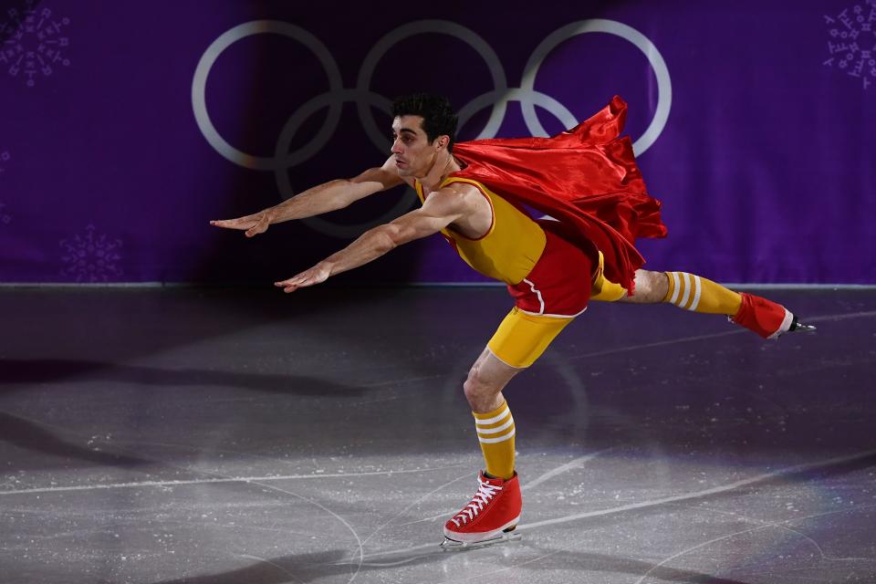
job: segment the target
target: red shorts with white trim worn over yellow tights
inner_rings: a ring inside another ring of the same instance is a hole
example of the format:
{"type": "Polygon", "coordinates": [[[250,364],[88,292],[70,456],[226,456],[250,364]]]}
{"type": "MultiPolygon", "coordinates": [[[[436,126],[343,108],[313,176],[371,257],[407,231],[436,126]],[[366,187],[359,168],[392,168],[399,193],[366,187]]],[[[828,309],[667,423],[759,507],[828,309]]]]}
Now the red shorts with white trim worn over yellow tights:
{"type": "Polygon", "coordinates": [[[536,266],[515,286],[508,286],[516,308],[546,317],[576,317],[587,309],[593,278],[593,259],[549,231],[536,266]]]}

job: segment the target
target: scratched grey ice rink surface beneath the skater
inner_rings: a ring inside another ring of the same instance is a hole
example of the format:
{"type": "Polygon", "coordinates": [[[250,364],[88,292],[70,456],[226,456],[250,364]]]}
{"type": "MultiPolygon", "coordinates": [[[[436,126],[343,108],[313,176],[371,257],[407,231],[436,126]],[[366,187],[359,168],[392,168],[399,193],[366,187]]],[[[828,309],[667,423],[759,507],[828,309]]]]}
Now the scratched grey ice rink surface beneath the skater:
{"type": "Polygon", "coordinates": [[[876,291],[594,303],[506,389],[522,537],[444,552],[498,287],[0,289],[4,584],[876,582],[876,291]]]}

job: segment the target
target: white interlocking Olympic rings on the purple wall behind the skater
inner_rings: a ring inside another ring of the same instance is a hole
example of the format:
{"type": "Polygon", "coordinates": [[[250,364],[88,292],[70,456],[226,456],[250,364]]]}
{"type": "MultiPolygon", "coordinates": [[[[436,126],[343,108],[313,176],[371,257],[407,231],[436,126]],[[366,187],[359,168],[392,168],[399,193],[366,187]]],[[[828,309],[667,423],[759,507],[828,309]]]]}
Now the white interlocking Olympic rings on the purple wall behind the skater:
{"type": "MultiPolygon", "coordinates": [[[[474,114],[487,107],[492,107],[492,111],[490,112],[484,130],[482,130],[477,136],[478,139],[495,137],[496,132],[498,132],[499,127],[502,124],[502,120],[505,118],[509,101],[520,102],[527,129],[533,136],[547,136],[547,131],[538,120],[536,106],[549,111],[567,129],[577,125],[579,120],[575,118],[566,106],[561,104],[557,99],[535,89],[535,82],[538,69],[541,67],[547,55],[555,47],[561,42],[568,40],[568,38],[587,33],[608,33],[610,35],[620,36],[631,42],[635,47],[639,48],[651,63],[654,75],[657,78],[657,108],[654,111],[654,117],[651,124],[641,137],[633,143],[633,151],[635,151],[636,154],[641,154],[652,146],[654,141],[660,136],[663,127],[666,125],[666,120],[669,118],[669,110],[672,106],[673,99],[672,83],[669,77],[669,69],[666,68],[666,63],[663,61],[660,51],[657,50],[657,47],[654,46],[647,36],[642,35],[641,32],[635,28],[614,20],[596,18],[581,20],[579,22],[562,26],[548,35],[529,57],[527,65],[524,68],[524,74],[519,88],[508,87],[505,70],[502,67],[502,63],[499,61],[499,57],[495,54],[493,48],[490,47],[481,36],[478,36],[470,28],[466,28],[465,26],[458,25],[448,20],[419,20],[399,26],[383,36],[374,47],[371,47],[371,50],[362,62],[356,89],[346,89],[343,87],[340,69],[338,68],[337,62],[331,57],[328,48],[316,36],[313,36],[307,30],[300,26],[277,20],[255,20],[247,22],[224,32],[224,34],[216,38],[210,47],[207,47],[206,51],[204,51],[201,60],[198,62],[197,68],[195,68],[192,81],[192,108],[194,110],[194,119],[197,121],[198,128],[200,128],[204,138],[206,138],[210,145],[214,147],[215,151],[219,152],[227,160],[256,171],[274,172],[280,194],[284,199],[287,199],[295,194],[292,184],[289,181],[287,169],[295,167],[302,162],[306,162],[328,143],[328,140],[338,128],[341,108],[343,104],[348,101],[352,101],[356,104],[362,126],[370,141],[379,151],[386,153],[386,132],[378,127],[377,122],[372,116],[371,109],[378,108],[389,115],[391,113],[391,101],[390,99],[373,93],[369,89],[371,77],[373,76],[377,63],[391,47],[409,36],[426,33],[454,36],[464,41],[464,43],[474,48],[474,50],[483,57],[485,64],[490,71],[490,76],[493,79],[493,86],[495,89],[475,97],[465,104],[458,112],[459,125],[460,127],[463,127],[465,122],[470,120],[474,114]],[[224,138],[219,135],[213,122],[210,120],[205,97],[207,77],[215,64],[216,59],[223,53],[223,51],[226,48],[231,47],[238,40],[247,36],[266,33],[287,36],[297,40],[305,47],[308,47],[310,52],[318,58],[322,68],[325,69],[328,76],[328,91],[309,99],[292,114],[287,120],[286,125],[280,130],[280,134],[276,141],[274,156],[270,158],[255,156],[245,151],[240,151],[225,141],[224,138]],[[289,147],[301,125],[305,120],[308,120],[310,116],[324,108],[328,108],[328,116],[316,136],[314,136],[308,144],[302,146],[296,151],[290,152],[289,147]]],[[[319,217],[310,217],[304,221],[322,233],[346,238],[359,235],[363,228],[386,223],[393,217],[407,210],[411,206],[411,203],[412,201],[409,197],[402,197],[399,203],[396,203],[396,205],[386,214],[383,214],[378,219],[365,224],[339,225],[328,222],[319,217]]]]}

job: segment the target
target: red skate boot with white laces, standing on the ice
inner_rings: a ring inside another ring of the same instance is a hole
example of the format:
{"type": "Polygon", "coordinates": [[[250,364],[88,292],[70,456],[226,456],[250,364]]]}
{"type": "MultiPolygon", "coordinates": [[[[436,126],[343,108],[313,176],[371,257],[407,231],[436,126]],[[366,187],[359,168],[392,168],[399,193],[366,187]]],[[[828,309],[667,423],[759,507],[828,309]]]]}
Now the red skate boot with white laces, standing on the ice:
{"type": "Polygon", "coordinates": [[[472,502],[444,524],[444,537],[450,544],[470,546],[501,541],[520,520],[523,499],[517,474],[508,479],[477,477],[477,493],[472,502]]]}

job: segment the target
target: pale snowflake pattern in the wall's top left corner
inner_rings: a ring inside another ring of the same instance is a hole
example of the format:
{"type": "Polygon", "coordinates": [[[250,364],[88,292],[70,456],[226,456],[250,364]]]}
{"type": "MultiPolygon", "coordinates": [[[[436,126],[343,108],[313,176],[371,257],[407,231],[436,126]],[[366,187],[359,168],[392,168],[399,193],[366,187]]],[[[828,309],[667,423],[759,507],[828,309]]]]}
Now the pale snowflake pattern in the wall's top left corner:
{"type": "Polygon", "coordinates": [[[11,77],[24,78],[32,88],[40,76],[48,78],[58,67],[70,66],[70,39],[62,34],[69,18],[58,18],[47,7],[35,8],[34,0],[27,0],[21,11],[10,8],[6,16],[8,20],[0,23],[0,38],[5,39],[0,63],[11,77]]]}

